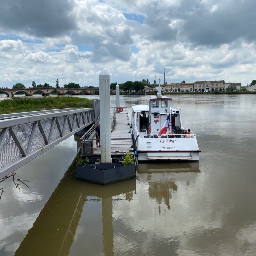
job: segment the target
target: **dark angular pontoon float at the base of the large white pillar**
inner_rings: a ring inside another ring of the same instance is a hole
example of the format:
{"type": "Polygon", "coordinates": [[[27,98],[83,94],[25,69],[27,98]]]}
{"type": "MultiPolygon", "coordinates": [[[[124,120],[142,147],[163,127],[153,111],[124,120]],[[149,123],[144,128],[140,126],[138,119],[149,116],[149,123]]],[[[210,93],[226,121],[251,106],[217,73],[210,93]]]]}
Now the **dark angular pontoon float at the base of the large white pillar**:
{"type": "Polygon", "coordinates": [[[108,184],[135,177],[135,163],[76,165],[76,178],[100,184],[108,184]]]}

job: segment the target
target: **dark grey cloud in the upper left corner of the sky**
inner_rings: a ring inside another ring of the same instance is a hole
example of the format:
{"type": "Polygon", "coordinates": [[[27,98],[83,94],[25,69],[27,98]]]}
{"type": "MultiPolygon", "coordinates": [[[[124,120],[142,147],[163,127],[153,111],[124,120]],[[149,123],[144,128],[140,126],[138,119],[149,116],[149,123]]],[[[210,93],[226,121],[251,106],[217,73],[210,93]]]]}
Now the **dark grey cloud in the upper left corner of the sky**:
{"type": "Polygon", "coordinates": [[[76,28],[74,1],[9,0],[0,8],[1,30],[54,37],[76,28]]]}

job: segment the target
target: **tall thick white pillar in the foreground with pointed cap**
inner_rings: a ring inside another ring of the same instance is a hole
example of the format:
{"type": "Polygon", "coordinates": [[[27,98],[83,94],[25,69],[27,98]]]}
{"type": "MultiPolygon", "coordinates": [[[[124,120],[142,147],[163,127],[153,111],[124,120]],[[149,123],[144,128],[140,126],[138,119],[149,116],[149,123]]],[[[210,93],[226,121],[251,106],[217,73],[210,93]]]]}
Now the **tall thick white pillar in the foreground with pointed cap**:
{"type": "Polygon", "coordinates": [[[105,71],[99,75],[99,90],[101,163],[111,163],[110,84],[105,71]]]}

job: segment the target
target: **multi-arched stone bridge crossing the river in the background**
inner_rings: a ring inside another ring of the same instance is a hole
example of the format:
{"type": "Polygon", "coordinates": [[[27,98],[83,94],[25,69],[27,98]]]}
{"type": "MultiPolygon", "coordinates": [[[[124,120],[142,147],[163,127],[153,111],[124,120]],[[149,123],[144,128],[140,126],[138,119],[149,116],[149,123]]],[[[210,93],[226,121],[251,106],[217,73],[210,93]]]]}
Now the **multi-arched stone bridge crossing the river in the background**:
{"type": "MultiPolygon", "coordinates": [[[[111,90],[115,91],[115,90],[111,90]]],[[[79,95],[83,92],[85,95],[99,94],[99,88],[0,88],[0,93],[5,93],[8,97],[13,97],[17,92],[22,92],[26,96],[32,96],[35,92],[40,92],[43,96],[54,92],[57,95],[79,95]]],[[[38,93],[36,93],[38,94],[38,93]]]]}

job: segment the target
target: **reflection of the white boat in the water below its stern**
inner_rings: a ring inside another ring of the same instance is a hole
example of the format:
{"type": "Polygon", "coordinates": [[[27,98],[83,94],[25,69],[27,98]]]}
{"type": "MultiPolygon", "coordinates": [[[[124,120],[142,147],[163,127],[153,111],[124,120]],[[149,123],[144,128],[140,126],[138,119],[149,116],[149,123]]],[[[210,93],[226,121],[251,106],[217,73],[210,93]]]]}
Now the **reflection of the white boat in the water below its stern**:
{"type": "Polygon", "coordinates": [[[176,192],[180,183],[186,183],[186,186],[194,183],[197,173],[200,172],[200,170],[198,162],[167,164],[147,163],[139,164],[137,172],[140,182],[148,182],[149,197],[156,200],[160,213],[161,202],[164,202],[170,210],[172,191],[176,192]]]}

